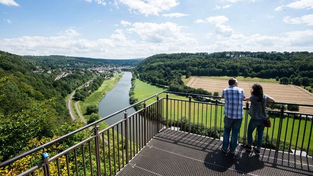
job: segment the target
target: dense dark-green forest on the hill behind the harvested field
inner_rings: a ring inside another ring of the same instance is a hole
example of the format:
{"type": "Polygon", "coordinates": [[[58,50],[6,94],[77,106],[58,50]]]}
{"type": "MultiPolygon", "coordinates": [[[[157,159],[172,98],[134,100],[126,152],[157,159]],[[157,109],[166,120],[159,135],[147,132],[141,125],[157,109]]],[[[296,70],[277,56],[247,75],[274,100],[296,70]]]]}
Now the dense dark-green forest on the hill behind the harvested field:
{"type": "MultiPolygon", "coordinates": [[[[171,91],[199,93],[183,86],[182,75],[274,78],[282,84],[313,85],[313,53],[216,52],[157,54],[135,69],[140,79],[171,91]]],[[[311,90],[311,89],[310,89],[311,90]]],[[[201,92],[201,91],[200,91],[201,92]]]]}

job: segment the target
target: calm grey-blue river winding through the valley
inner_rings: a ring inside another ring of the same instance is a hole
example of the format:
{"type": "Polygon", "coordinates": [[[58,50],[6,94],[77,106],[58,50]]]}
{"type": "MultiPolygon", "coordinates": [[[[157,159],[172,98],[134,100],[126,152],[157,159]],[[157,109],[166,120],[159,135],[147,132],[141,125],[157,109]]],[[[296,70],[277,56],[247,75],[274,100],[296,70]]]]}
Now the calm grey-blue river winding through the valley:
{"type": "MultiPolygon", "coordinates": [[[[112,88],[99,103],[99,113],[102,118],[130,106],[129,90],[132,87],[132,72],[124,71],[123,73],[123,77],[118,81],[116,86],[112,88]]],[[[127,110],[128,114],[134,112],[134,108],[127,110]]],[[[123,118],[124,113],[122,112],[105,120],[105,122],[108,125],[112,125],[123,118]]]]}

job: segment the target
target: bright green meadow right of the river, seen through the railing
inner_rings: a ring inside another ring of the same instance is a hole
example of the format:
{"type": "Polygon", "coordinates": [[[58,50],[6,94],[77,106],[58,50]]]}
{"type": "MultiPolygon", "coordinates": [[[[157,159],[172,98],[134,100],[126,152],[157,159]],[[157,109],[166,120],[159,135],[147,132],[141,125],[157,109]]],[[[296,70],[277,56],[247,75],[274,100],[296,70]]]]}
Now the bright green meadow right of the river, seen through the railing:
{"type": "MultiPolygon", "coordinates": [[[[227,79],[225,77],[225,79],[227,79]]],[[[138,98],[138,100],[143,100],[149,96],[152,96],[160,91],[163,91],[165,89],[163,88],[157,88],[156,86],[153,86],[151,84],[142,82],[138,79],[136,79],[135,83],[135,88],[134,88],[134,96],[135,98],[138,98]]],[[[160,97],[166,97],[165,93],[162,93],[160,97]]],[[[182,99],[186,100],[185,101],[178,101],[178,100],[169,100],[169,111],[168,111],[168,117],[169,121],[175,119],[175,121],[179,121],[184,118],[189,118],[189,102],[188,98],[183,97],[183,96],[177,96],[174,94],[170,94],[169,98],[172,99],[182,99]]],[[[153,103],[156,101],[156,98],[153,98],[153,100],[147,101],[147,105],[153,103]]],[[[164,104],[165,104],[164,100],[164,104]]],[[[212,104],[202,104],[202,103],[196,103],[192,102],[191,103],[191,116],[190,116],[190,122],[193,124],[197,123],[202,123],[206,129],[209,129],[210,127],[215,126],[214,124],[216,123],[216,126],[218,129],[223,129],[224,128],[224,114],[223,114],[223,109],[224,107],[218,106],[217,113],[215,114],[215,105],[212,104]],[[203,107],[202,107],[203,106],[203,107]],[[216,118],[215,118],[216,115],[216,118]],[[215,120],[216,119],[216,120],[215,120]]],[[[246,114],[246,111],[244,111],[246,114]]],[[[245,115],[244,115],[245,116],[245,115]]],[[[166,117],[166,109],[163,109],[163,117],[166,117]]],[[[272,138],[276,139],[277,134],[278,134],[278,126],[279,126],[279,116],[276,115],[276,118],[271,118],[271,123],[272,126],[270,128],[266,128],[264,133],[268,131],[268,136],[269,140],[272,138]]],[[[240,136],[244,136],[245,132],[245,127],[244,124],[248,123],[250,119],[250,116],[248,118],[244,118],[243,120],[243,125],[240,131],[240,136]]],[[[286,142],[290,143],[293,146],[297,144],[297,148],[301,148],[302,141],[303,142],[303,148],[307,150],[308,144],[309,144],[309,134],[310,134],[310,128],[312,125],[312,121],[307,122],[307,126],[305,127],[305,121],[304,120],[298,120],[298,119],[293,119],[293,118],[284,118],[283,123],[282,123],[282,134],[281,134],[281,141],[285,141],[286,137],[286,142]],[[288,122],[289,121],[289,122],[288,122]],[[299,124],[300,123],[300,124],[299,124]],[[291,129],[292,124],[294,124],[293,130],[291,129]],[[299,133],[298,133],[299,131],[299,133]],[[286,135],[287,134],[287,135],[286,135]],[[303,134],[305,134],[305,137],[303,138],[303,134]],[[292,137],[291,137],[292,135],[292,137]]],[[[255,136],[255,132],[253,134],[255,136]]],[[[292,149],[292,147],[291,147],[292,149]]],[[[312,151],[313,149],[313,137],[310,139],[310,147],[309,150],[312,151]]],[[[310,152],[310,155],[312,155],[312,152],[310,152]]]]}

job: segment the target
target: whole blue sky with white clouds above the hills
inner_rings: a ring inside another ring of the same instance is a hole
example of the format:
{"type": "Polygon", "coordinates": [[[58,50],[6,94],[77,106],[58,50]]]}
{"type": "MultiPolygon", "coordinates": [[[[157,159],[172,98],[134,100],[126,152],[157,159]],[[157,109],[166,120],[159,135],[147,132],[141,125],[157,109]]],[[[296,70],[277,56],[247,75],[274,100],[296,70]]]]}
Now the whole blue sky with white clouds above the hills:
{"type": "Polygon", "coordinates": [[[0,0],[0,50],[105,59],[313,52],[313,0],[0,0]]]}

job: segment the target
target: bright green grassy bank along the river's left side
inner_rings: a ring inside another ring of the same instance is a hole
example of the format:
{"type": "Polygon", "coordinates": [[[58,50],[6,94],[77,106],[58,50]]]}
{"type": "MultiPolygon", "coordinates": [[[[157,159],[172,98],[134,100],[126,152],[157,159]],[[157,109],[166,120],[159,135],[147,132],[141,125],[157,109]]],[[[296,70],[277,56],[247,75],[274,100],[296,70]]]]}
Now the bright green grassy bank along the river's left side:
{"type": "MultiPolygon", "coordinates": [[[[86,121],[89,120],[90,115],[86,115],[86,109],[89,105],[96,105],[98,107],[101,99],[116,86],[117,82],[122,78],[123,73],[118,74],[117,76],[112,77],[110,80],[104,80],[100,88],[90,94],[89,97],[86,97],[85,101],[80,101],[78,103],[78,108],[85,117],[86,121]]],[[[101,122],[99,129],[105,129],[108,125],[105,122],[101,122]]]]}

